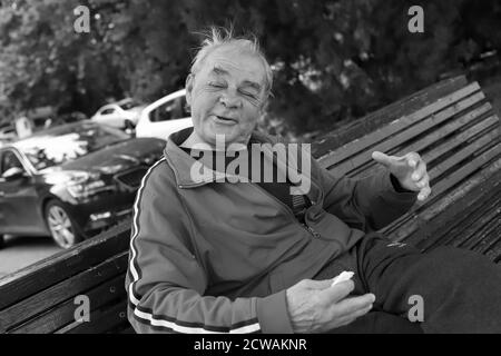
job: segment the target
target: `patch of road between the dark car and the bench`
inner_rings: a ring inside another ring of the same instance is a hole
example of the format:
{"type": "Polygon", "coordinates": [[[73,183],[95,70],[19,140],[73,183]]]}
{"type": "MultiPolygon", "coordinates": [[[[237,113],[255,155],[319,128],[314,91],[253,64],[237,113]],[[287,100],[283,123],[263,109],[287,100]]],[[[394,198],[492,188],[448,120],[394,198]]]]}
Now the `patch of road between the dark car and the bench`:
{"type": "Polygon", "coordinates": [[[0,278],[60,250],[51,237],[7,236],[0,249],[0,278]]]}

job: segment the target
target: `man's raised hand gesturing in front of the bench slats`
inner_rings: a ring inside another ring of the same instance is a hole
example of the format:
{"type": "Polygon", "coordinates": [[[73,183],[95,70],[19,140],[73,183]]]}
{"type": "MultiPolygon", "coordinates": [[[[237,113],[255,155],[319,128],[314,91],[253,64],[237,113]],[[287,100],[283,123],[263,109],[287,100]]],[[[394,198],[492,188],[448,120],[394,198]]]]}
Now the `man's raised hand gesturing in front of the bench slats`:
{"type": "Polygon", "coordinates": [[[399,180],[402,188],[419,191],[418,199],[423,201],[431,194],[426,164],[416,152],[405,156],[387,156],[380,151],[372,152],[372,158],[385,166],[399,180]]]}

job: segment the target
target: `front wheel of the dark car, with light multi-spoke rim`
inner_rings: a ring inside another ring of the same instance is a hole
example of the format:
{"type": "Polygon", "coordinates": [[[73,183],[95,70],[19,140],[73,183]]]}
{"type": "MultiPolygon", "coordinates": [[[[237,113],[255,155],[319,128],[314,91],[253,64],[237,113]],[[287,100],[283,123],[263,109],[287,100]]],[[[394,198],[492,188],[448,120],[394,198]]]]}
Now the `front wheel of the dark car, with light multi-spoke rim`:
{"type": "Polygon", "coordinates": [[[49,201],[46,206],[45,218],[50,235],[58,246],[70,248],[82,240],[76,222],[61,202],[49,201]]]}

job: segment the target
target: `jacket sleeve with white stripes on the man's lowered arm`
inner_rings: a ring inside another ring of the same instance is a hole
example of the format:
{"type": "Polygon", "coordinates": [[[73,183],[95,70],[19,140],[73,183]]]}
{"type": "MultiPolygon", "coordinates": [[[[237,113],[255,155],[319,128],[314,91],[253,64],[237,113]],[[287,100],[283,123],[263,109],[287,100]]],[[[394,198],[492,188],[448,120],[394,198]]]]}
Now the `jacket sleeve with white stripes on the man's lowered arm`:
{"type": "Polygon", "coordinates": [[[136,197],[126,277],[127,314],[134,329],[291,333],[285,290],[234,300],[204,296],[207,271],[196,257],[189,214],[166,170],[165,165],[150,169],[136,197]]]}

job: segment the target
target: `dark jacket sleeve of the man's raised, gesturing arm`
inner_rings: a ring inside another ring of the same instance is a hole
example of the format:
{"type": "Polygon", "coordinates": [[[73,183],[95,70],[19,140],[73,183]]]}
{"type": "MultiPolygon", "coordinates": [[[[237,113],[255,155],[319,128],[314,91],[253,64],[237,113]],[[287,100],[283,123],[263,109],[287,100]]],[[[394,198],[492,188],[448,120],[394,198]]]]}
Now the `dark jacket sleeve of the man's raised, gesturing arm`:
{"type": "Polygon", "coordinates": [[[352,179],[336,176],[314,160],[312,168],[325,194],[323,208],[365,233],[379,230],[404,215],[418,197],[415,191],[403,190],[387,169],[352,179]]]}

